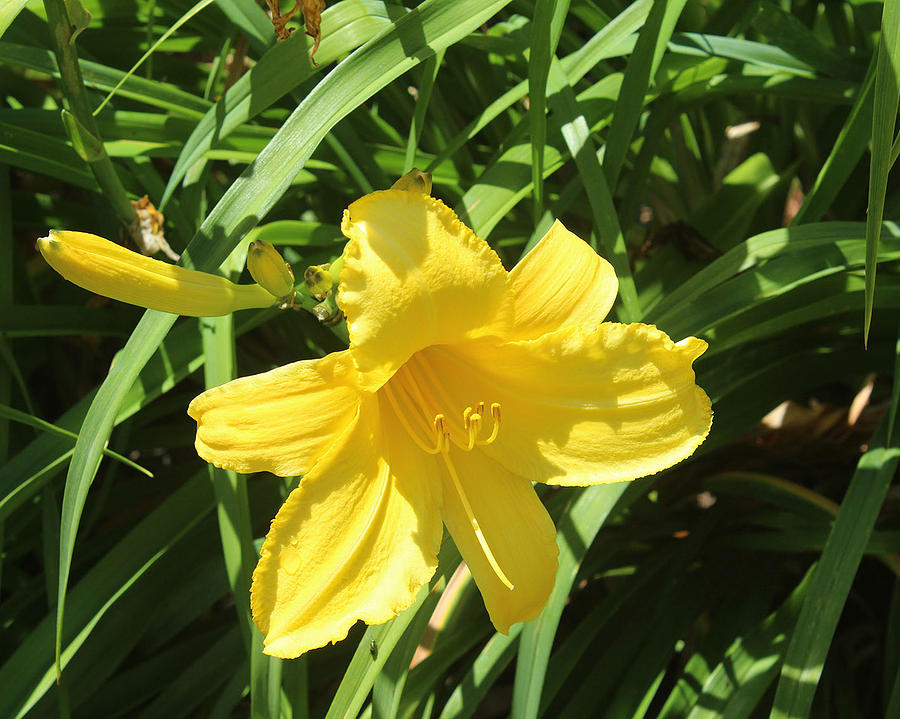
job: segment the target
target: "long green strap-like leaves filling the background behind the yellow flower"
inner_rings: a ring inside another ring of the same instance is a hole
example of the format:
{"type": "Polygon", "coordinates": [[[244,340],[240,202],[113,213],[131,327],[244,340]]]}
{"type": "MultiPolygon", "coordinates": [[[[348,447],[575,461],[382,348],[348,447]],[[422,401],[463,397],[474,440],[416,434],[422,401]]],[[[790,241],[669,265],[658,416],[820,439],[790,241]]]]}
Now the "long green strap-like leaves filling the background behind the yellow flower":
{"type": "Polygon", "coordinates": [[[900,2],[340,0],[318,65],[199,5],[126,78],[190,3],[0,4],[0,717],[900,716],[900,2]],[[510,636],[447,543],[409,611],[275,660],[249,574],[296,479],[208,468],[184,410],[340,340],[119,306],[32,245],[147,194],[188,266],[263,237],[302,275],[413,166],[508,266],[559,217],[618,319],[706,338],[713,432],[543,494],[557,585],[510,636]]]}

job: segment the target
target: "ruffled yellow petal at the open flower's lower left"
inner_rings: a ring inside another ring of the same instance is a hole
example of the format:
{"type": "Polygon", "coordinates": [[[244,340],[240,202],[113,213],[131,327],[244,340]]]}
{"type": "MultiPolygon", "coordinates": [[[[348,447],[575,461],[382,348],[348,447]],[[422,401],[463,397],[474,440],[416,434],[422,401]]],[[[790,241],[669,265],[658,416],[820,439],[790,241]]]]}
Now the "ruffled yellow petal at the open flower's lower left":
{"type": "Polygon", "coordinates": [[[434,574],[434,458],[429,465],[402,430],[382,428],[378,404],[363,401],[272,522],[251,591],[267,654],[296,657],[340,641],[357,620],[386,622],[434,574]]]}

